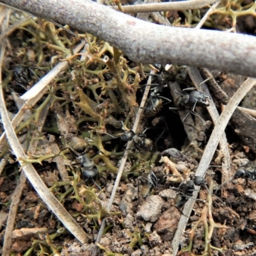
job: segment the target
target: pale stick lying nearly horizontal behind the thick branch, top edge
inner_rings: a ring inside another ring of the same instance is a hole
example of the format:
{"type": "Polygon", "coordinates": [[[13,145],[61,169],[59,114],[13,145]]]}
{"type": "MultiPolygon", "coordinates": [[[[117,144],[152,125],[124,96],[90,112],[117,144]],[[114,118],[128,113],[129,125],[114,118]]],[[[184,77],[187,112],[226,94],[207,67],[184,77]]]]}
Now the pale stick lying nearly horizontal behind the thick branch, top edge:
{"type": "MultiPolygon", "coordinates": [[[[152,3],[152,4],[136,4],[122,6],[122,12],[124,13],[141,13],[141,12],[168,12],[171,10],[193,10],[212,4],[216,0],[191,0],[183,2],[172,2],[172,3],[152,3]]],[[[117,6],[113,9],[119,10],[117,6]]]]}

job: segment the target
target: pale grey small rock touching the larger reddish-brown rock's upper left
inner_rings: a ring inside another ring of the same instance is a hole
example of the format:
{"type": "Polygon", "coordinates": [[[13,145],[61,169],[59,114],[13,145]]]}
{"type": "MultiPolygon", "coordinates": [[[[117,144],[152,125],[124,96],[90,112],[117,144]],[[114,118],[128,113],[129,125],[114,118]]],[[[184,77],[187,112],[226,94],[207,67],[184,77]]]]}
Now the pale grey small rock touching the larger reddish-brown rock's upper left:
{"type": "Polygon", "coordinates": [[[160,196],[148,196],[143,205],[141,205],[136,217],[143,218],[145,221],[155,222],[161,214],[163,204],[164,201],[160,196]]]}

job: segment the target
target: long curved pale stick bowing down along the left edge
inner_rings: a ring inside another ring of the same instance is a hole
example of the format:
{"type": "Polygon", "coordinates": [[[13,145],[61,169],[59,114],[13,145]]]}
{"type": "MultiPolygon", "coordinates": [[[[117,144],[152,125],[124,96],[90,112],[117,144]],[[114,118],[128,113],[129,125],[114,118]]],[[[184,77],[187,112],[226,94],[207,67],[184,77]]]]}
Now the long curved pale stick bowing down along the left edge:
{"type": "MultiPolygon", "coordinates": [[[[10,147],[17,159],[26,159],[27,156],[24,153],[22,147],[20,146],[19,140],[15,134],[12,127],[10,119],[8,118],[8,113],[6,111],[6,106],[4,104],[3,88],[0,85],[0,113],[3,120],[4,130],[6,132],[6,137],[10,143],[10,147]]],[[[23,162],[19,161],[22,165],[23,162]]],[[[40,176],[33,168],[32,164],[26,164],[23,166],[23,171],[26,177],[31,182],[33,188],[35,188],[38,195],[45,202],[47,207],[56,215],[56,217],[63,223],[63,225],[79,240],[81,243],[86,243],[88,240],[87,234],[84,230],[76,223],[76,221],[70,216],[67,210],[60,204],[60,202],[52,195],[49,189],[45,186],[44,182],[40,179],[40,176]]]]}

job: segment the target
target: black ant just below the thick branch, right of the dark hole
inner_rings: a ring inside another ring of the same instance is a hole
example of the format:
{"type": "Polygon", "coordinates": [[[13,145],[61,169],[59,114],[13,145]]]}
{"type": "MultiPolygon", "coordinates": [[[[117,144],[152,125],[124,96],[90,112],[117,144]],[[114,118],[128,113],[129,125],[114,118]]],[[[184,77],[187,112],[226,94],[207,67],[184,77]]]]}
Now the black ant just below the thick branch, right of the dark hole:
{"type": "Polygon", "coordinates": [[[188,115],[190,113],[197,116],[204,122],[202,117],[195,112],[195,108],[196,108],[196,106],[208,107],[209,102],[207,101],[207,99],[209,99],[209,96],[205,95],[203,92],[199,92],[195,88],[186,88],[186,89],[182,90],[182,92],[175,90],[175,92],[179,93],[179,95],[180,95],[177,98],[177,100],[175,100],[176,108],[169,108],[169,109],[176,109],[176,110],[188,109],[188,113],[183,118],[182,122],[184,122],[186,120],[186,118],[188,117],[188,115]],[[191,91],[191,92],[184,93],[186,91],[191,91]]]}

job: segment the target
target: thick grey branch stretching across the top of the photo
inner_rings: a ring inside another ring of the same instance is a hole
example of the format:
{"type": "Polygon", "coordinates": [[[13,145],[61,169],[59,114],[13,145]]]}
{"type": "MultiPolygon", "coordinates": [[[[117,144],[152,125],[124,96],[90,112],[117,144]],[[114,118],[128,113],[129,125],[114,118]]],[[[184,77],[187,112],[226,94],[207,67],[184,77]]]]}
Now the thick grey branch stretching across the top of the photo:
{"type": "Polygon", "coordinates": [[[150,24],[89,0],[0,0],[92,33],[142,63],[173,63],[256,77],[256,38],[150,24]]]}

